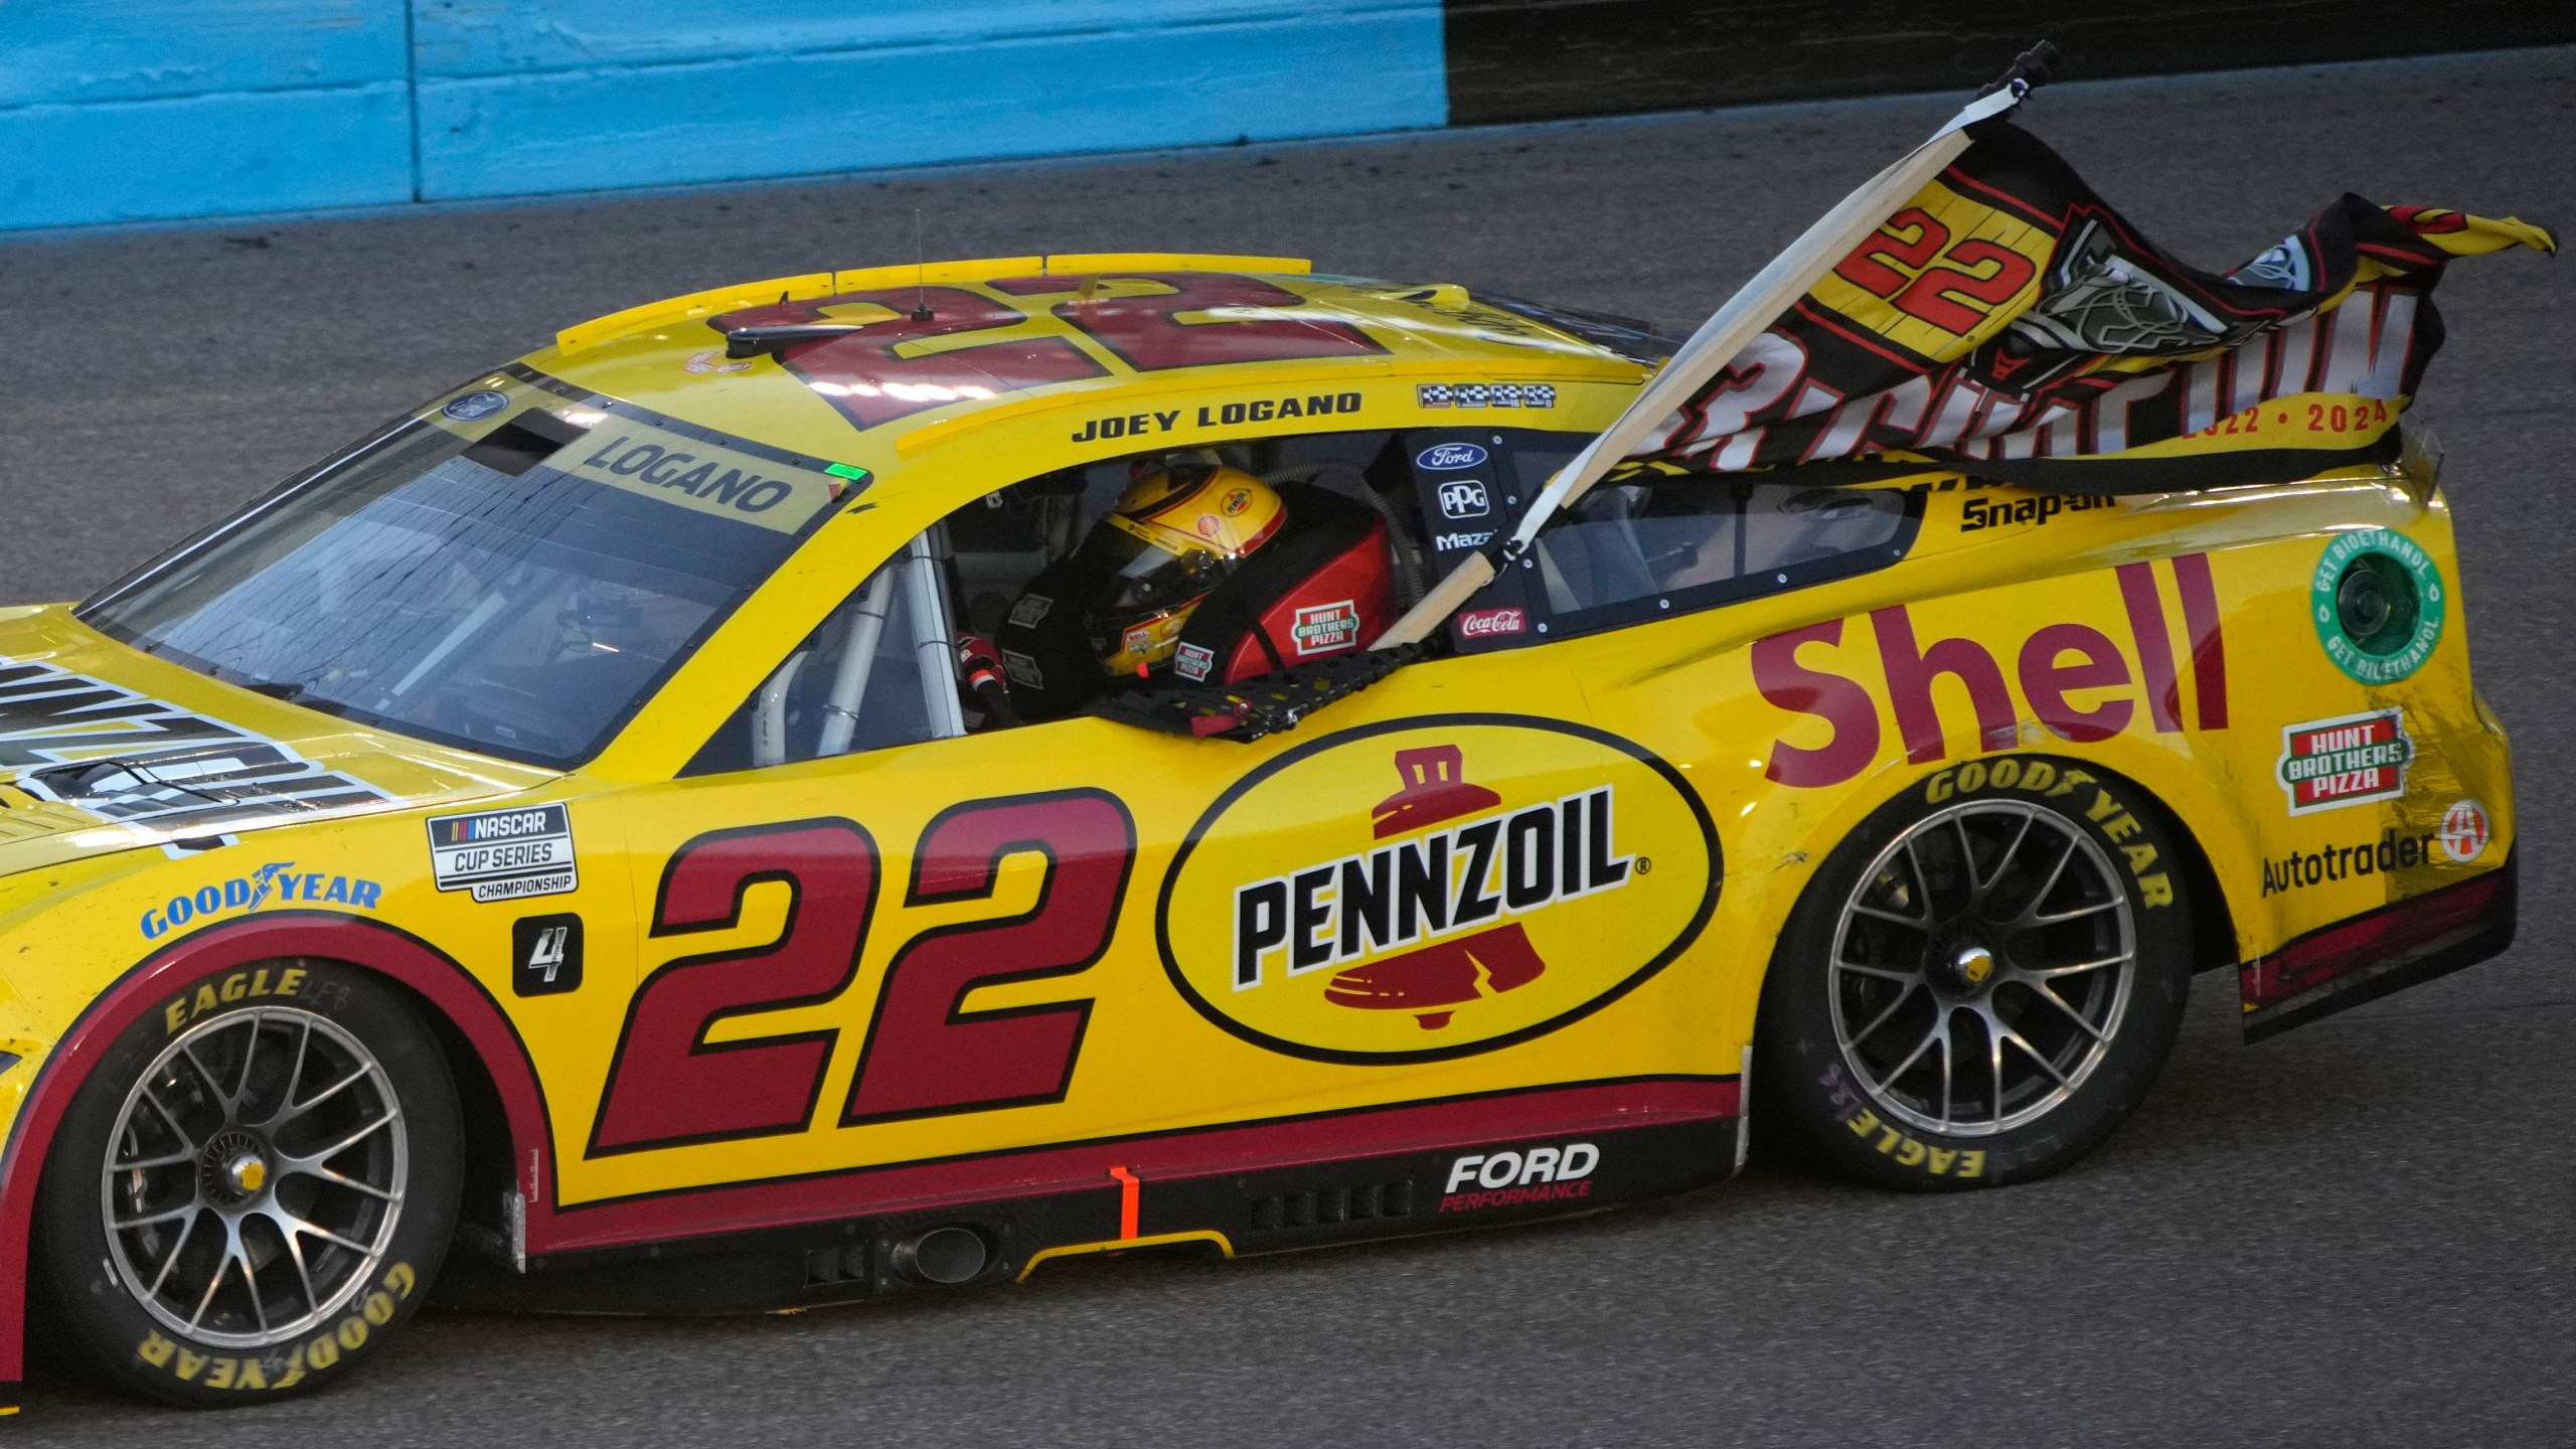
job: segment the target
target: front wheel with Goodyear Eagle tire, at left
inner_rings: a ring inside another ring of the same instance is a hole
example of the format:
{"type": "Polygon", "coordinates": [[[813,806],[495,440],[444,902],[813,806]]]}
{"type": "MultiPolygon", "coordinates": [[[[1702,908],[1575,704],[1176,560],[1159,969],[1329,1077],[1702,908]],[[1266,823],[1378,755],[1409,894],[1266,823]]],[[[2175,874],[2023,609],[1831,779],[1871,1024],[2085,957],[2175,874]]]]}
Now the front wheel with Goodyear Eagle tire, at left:
{"type": "Polygon", "coordinates": [[[49,1307],[82,1356],[167,1400],[314,1387],[425,1294],[456,1158],[446,1062],[394,993],[325,962],[193,982],[64,1119],[49,1307]]]}

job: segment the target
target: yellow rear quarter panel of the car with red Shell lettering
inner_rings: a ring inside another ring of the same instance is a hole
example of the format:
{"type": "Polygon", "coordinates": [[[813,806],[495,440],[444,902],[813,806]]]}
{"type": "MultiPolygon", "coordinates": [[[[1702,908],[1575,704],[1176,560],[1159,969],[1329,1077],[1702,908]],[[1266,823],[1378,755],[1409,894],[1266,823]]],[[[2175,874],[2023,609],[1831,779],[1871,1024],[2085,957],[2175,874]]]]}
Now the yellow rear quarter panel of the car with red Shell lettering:
{"type": "MultiPolygon", "coordinates": [[[[1739,964],[1716,1029],[1749,1039],[1772,941],[1834,846],[1896,794],[1984,786],[2002,753],[2094,773],[2061,776],[2087,810],[2125,804],[2115,776],[2169,810],[2218,887],[2195,908],[2226,913],[2236,959],[2499,866],[2509,755],[2470,688],[2455,583],[2445,500],[2396,474],[2128,500],[1945,480],[1888,570],[1551,652],[1605,727],[1687,761],[1716,815],[1726,900],[1698,951],[1739,964]],[[2313,616],[2318,559],[2362,529],[2416,541],[2442,583],[2432,652],[2385,683],[2344,673],[2313,616]],[[2293,812],[2285,732],[2383,712],[2411,740],[2403,786],[2293,812]],[[2442,846],[2463,799],[2491,828],[2468,859],[2442,846]]],[[[2187,895],[2182,861],[2130,866],[2151,905],[2187,895]]]]}

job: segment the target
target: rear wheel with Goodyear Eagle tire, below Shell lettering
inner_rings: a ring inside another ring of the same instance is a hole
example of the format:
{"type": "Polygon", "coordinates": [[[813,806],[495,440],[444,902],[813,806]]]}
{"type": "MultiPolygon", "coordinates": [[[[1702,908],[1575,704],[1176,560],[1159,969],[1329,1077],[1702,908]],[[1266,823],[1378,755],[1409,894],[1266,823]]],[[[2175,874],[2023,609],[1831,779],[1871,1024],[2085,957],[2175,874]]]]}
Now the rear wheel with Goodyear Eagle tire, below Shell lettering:
{"type": "Polygon", "coordinates": [[[2182,864],[2133,784],[2007,755],[1929,776],[1780,936],[1757,1098],[1893,1186],[2045,1176],[2146,1096],[2190,982],[2182,864]]]}

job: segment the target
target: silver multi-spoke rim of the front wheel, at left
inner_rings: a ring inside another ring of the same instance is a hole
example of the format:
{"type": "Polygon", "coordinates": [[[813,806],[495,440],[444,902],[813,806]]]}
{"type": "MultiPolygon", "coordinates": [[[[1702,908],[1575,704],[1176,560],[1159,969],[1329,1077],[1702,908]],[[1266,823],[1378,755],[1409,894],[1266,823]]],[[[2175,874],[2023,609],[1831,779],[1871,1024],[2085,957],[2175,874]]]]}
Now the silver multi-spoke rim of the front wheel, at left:
{"type": "Polygon", "coordinates": [[[268,1348],[358,1297],[407,1181],[410,1132],[376,1055],[268,1006],[152,1060],[108,1140],[98,1207],[144,1312],[198,1343],[268,1348]]]}

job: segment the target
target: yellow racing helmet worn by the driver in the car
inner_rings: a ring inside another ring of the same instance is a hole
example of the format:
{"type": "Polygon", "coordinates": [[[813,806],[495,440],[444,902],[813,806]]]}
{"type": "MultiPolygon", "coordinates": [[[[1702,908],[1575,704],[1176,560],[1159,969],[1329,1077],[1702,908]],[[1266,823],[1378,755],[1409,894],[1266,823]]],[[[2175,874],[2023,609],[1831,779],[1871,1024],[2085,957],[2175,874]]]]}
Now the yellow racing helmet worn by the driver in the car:
{"type": "Polygon", "coordinates": [[[1190,611],[1288,523],[1262,480],[1218,462],[1149,464],[1077,557],[1103,578],[1084,632],[1110,676],[1172,657],[1190,611]]]}

